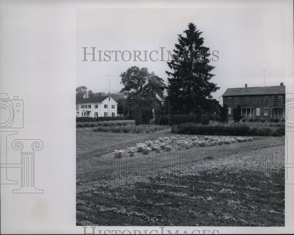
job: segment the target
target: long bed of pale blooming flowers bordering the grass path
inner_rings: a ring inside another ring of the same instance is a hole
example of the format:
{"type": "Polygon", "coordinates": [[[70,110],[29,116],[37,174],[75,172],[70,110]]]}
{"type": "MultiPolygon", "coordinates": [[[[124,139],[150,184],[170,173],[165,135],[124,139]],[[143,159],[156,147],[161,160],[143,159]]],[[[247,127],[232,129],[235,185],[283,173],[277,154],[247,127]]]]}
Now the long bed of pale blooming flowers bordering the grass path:
{"type": "Polygon", "coordinates": [[[210,147],[222,144],[232,144],[241,143],[246,141],[252,141],[252,137],[236,137],[230,138],[226,136],[216,137],[216,136],[179,136],[171,135],[160,137],[153,142],[151,140],[145,141],[144,143],[138,143],[136,147],[129,147],[126,151],[115,150],[113,152],[114,156],[122,157],[123,154],[129,154],[129,156],[134,156],[135,152],[148,155],[151,151],[156,153],[175,150],[187,150],[192,147],[210,147]]]}

